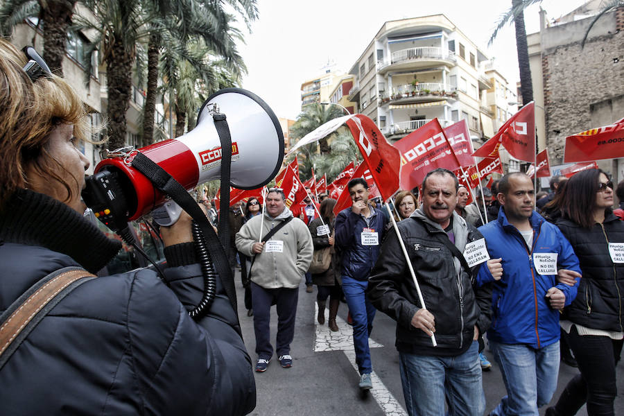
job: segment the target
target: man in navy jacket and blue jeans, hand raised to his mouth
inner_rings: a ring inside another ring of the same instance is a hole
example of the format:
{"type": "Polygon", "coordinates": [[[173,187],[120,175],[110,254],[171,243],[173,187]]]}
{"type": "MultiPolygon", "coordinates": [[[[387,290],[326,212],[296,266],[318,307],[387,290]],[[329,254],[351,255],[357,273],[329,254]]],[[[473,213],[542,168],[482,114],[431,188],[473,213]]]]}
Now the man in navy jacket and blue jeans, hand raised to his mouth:
{"type": "Polygon", "coordinates": [[[379,255],[385,217],[368,203],[368,184],[358,177],[347,184],[353,206],[336,216],[336,247],[342,254],[341,276],[343,292],[353,318],[353,344],[360,372],[359,388],[370,390],[372,363],[368,336],[372,329],[375,309],[365,291],[370,269],[379,255]]]}

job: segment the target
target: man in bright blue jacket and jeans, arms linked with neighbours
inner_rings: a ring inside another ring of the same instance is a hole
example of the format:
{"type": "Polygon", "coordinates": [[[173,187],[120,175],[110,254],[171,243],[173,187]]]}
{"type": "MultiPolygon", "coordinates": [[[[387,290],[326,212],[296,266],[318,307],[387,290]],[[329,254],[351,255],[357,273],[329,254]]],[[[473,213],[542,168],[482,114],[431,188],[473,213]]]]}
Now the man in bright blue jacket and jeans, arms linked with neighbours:
{"type": "Polygon", "coordinates": [[[479,228],[492,260],[477,277],[494,282],[487,339],[507,388],[491,415],[537,415],[557,388],[559,311],[576,296],[580,267],[562,232],[534,211],[530,177],[508,173],[498,190],[499,216],[479,228]]]}

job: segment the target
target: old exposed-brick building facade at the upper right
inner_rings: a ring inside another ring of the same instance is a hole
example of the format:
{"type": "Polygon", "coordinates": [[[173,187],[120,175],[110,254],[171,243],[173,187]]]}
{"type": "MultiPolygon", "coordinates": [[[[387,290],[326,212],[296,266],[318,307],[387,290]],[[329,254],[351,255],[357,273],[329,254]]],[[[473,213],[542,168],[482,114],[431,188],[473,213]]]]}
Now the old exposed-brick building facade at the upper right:
{"type": "MultiPolygon", "coordinates": [[[[566,137],[624,116],[624,7],[600,17],[581,47],[598,10],[591,1],[551,23],[542,10],[539,33],[527,36],[538,146],[553,165],[564,162],[566,137]]],[[[598,165],[624,178],[624,158],[598,165]]]]}

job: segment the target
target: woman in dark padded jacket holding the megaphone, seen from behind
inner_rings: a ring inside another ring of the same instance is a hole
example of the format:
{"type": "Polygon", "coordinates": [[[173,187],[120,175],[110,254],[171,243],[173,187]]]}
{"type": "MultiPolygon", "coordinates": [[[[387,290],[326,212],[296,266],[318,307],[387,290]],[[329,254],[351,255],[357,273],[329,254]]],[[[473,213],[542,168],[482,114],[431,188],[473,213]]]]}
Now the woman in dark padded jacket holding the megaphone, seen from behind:
{"type": "Polygon", "coordinates": [[[83,218],[76,92],[0,40],[0,403],[6,415],[243,415],[251,361],[219,279],[209,313],[190,217],[162,227],[168,267],[96,277],[119,251],[83,218]]]}

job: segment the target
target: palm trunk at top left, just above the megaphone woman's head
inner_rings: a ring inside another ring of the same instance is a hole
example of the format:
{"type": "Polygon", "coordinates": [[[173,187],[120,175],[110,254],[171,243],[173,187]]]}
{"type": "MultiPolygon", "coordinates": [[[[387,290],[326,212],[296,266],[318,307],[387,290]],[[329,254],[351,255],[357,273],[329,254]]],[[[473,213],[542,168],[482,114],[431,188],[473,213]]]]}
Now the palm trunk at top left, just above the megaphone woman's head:
{"type": "Polygon", "coordinates": [[[67,45],[67,28],[76,0],[40,1],[41,20],[44,29],[43,58],[51,71],[63,76],[62,62],[67,45]]]}

